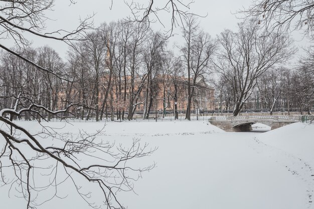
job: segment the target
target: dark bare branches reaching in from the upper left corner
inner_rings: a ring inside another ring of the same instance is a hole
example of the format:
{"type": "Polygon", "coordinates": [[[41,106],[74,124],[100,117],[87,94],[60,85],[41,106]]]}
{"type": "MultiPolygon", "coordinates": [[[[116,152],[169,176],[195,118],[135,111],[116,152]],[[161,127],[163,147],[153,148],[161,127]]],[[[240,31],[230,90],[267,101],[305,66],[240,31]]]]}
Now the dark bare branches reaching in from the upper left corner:
{"type": "MultiPolygon", "coordinates": [[[[50,10],[53,7],[53,0],[43,1],[0,1],[2,3],[0,8],[0,27],[1,27],[1,38],[7,39],[12,38],[16,45],[20,48],[25,48],[31,44],[31,41],[25,38],[24,33],[47,38],[60,40],[68,45],[72,45],[72,41],[81,40],[85,30],[91,27],[89,23],[90,18],[81,21],[81,24],[73,31],[59,30],[50,33],[42,33],[45,28],[45,11],[50,10]],[[60,35],[61,36],[55,36],[60,35]]],[[[37,68],[53,72],[51,69],[43,68],[40,65],[36,65],[34,62],[23,57],[21,54],[0,44],[0,47],[15,56],[23,59],[24,61],[35,65],[37,68]]]]}

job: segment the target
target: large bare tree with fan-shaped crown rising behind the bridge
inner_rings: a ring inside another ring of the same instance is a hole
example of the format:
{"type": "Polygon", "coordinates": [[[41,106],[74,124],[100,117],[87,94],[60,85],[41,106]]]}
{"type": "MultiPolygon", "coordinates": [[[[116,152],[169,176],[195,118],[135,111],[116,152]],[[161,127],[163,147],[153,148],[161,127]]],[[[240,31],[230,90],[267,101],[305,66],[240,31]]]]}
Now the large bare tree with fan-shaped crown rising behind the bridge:
{"type": "Polygon", "coordinates": [[[256,86],[256,79],[266,70],[286,61],[294,53],[292,42],[284,33],[264,36],[254,21],[238,25],[238,32],[225,30],[218,37],[221,50],[215,62],[232,86],[233,115],[239,114],[256,86]]]}

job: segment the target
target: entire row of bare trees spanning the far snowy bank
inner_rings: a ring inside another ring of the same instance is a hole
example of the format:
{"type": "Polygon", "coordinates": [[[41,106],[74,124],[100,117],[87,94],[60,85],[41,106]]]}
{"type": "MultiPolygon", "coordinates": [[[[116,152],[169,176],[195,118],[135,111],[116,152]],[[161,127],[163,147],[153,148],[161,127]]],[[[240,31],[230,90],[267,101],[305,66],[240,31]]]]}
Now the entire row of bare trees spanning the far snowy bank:
{"type": "MultiPolygon", "coordinates": [[[[217,73],[219,81],[213,82],[217,97],[224,101],[225,109],[233,109],[233,115],[252,98],[258,100],[259,109],[271,113],[280,105],[288,111],[298,107],[309,113],[313,102],[308,92],[312,76],[307,73],[312,69],[311,54],[309,51],[303,58],[298,70],[283,73],[280,65],[296,51],[287,33],[265,34],[250,20],[238,24],[237,32],[225,30],[212,39],[195,17],[188,16],[182,36],[184,42],[176,46],[179,54],[175,55],[160,32],[143,24],[112,22],[103,23],[70,47],[66,60],[48,46],[19,51],[28,60],[53,70],[53,75],[38,72],[36,66],[3,52],[1,107],[11,108],[21,94],[24,100],[20,105],[25,107],[34,102],[57,110],[76,104],[70,113],[81,119],[99,121],[116,116],[117,120],[131,120],[138,105],[143,106],[142,117],[147,119],[156,111],[156,98],[162,95],[164,113],[170,99],[177,103],[178,98],[184,98],[186,119],[190,119],[191,104],[200,92],[197,89],[209,82],[211,73],[217,73]],[[307,80],[300,81],[302,78],[307,80]],[[304,85],[291,88],[293,81],[304,85]]],[[[173,111],[178,111],[177,104],[173,111]]],[[[41,114],[48,120],[52,115],[41,114]]],[[[25,118],[40,119],[28,113],[25,118]]]]}

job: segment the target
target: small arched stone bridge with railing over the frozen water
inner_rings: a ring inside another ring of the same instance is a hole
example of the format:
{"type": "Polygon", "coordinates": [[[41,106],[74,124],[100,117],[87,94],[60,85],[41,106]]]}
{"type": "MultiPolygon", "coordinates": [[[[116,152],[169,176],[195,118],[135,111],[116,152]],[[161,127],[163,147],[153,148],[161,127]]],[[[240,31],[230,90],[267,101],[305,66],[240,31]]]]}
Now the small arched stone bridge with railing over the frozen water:
{"type": "Polygon", "coordinates": [[[298,115],[256,115],[256,116],[213,116],[209,122],[225,131],[250,131],[252,124],[262,123],[271,127],[271,130],[280,128],[301,120],[298,115]]]}

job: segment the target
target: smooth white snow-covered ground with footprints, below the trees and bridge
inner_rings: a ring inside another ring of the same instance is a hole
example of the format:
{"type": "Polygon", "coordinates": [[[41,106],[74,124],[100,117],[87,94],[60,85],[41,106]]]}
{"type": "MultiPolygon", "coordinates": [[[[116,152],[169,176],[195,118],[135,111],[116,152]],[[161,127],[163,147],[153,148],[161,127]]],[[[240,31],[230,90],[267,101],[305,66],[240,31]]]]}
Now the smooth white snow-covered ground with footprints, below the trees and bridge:
{"type": "MultiPolygon", "coordinates": [[[[40,130],[34,122],[19,124],[40,130]]],[[[84,129],[94,133],[103,125],[74,122],[60,132],[76,134],[84,129]]],[[[230,133],[207,121],[138,120],[107,122],[98,137],[126,144],[136,137],[158,147],[137,162],[143,166],[155,162],[156,167],[135,182],[134,192],[118,194],[130,209],[314,208],[314,125],[295,123],[267,130],[256,124],[252,132],[230,133]]],[[[0,192],[0,208],[26,207],[23,199],[12,203],[16,198],[9,198],[5,188],[0,192]]],[[[89,207],[70,194],[38,208],[89,207]]]]}

